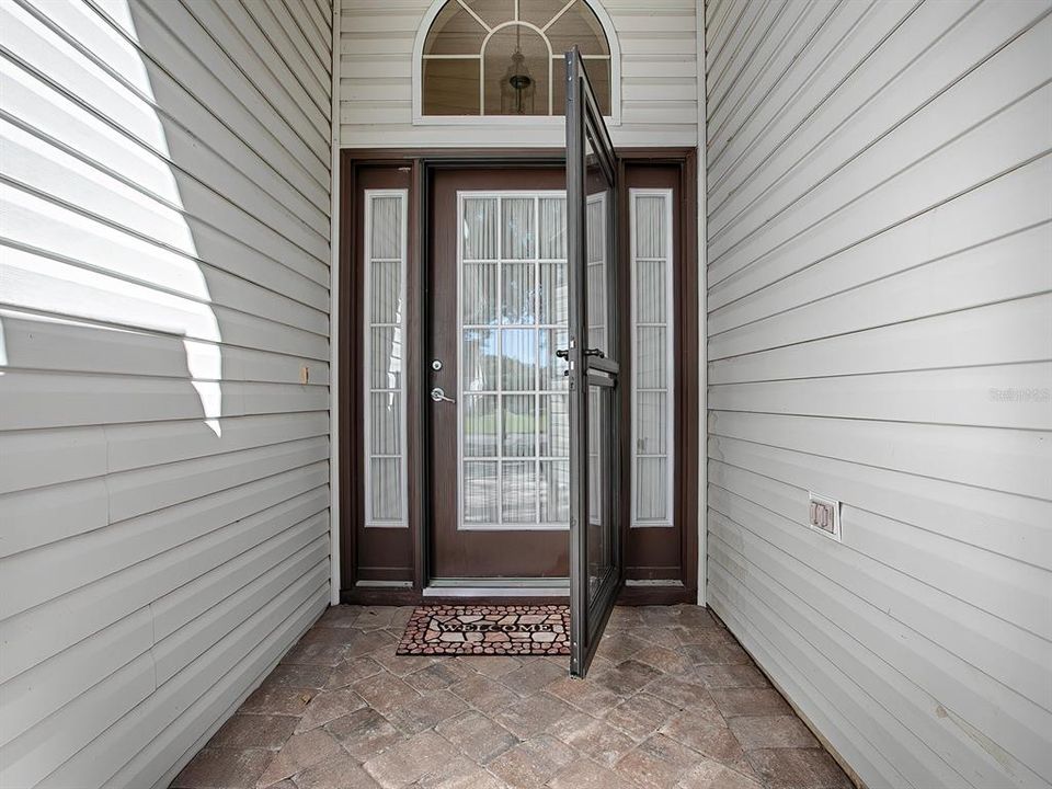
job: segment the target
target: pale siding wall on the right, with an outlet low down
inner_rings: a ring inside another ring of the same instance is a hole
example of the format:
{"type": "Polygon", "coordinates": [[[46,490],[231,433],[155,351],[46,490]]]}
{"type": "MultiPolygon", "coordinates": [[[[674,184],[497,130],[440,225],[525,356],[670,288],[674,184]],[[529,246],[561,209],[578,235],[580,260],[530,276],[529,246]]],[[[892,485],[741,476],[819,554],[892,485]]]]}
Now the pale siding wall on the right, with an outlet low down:
{"type": "Polygon", "coordinates": [[[708,601],[871,789],[1052,780],[1050,11],[706,8],[708,601]]]}

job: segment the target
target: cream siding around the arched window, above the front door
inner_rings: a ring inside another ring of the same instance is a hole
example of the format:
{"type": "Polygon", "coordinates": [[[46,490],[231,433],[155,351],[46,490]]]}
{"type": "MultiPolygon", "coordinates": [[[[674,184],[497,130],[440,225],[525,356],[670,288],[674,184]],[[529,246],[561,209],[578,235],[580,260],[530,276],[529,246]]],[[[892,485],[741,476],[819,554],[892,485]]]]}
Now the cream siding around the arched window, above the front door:
{"type": "MultiPolygon", "coordinates": [[[[353,148],[561,147],[561,124],[524,129],[413,125],[413,43],[430,0],[344,0],[340,13],[340,141],[353,148]]],[[[693,0],[594,0],[621,49],[617,146],[697,145],[697,18],[693,0]]]]}

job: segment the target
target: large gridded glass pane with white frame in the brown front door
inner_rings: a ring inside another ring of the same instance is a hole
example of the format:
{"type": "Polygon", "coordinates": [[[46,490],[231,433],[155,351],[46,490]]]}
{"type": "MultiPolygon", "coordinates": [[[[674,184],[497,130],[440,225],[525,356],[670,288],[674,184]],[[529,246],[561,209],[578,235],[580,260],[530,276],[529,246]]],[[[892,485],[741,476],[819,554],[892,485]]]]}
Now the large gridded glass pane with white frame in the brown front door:
{"type": "Polygon", "coordinates": [[[459,527],[565,529],[565,194],[458,198],[459,527]]]}

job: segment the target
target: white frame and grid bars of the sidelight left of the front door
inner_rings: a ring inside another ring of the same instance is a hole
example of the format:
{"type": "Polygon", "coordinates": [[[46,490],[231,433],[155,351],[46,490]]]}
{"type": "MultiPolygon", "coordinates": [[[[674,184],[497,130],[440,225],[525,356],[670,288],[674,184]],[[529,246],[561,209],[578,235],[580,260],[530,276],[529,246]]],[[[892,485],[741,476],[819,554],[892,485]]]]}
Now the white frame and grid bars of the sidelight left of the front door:
{"type": "Polygon", "coordinates": [[[363,332],[362,332],[362,390],[363,390],[363,438],[362,450],[365,461],[364,488],[365,488],[365,527],[366,528],[409,528],[409,483],[407,474],[408,464],[408,443],[405,435],[405,270],[409,242],[409,218],[408,218],[409,190],[365,190],[365,217],[364,217],[364,254],[363,261],[365,271],[363,276],[363,332]],[[373,256],[373,206],[379,198],[398,199],[399,206],[399,251],[398,258],[374,258],[373,256]],[[399,268],[399,295],[398,295],[398,320],[395,323],[374,323],[371,298],[373,298],[373,264],[374,263],[397,263],[399,268]],[[398,387],[376,388],[373,386],[373,329],[377,327],[393,328],[398,332],[402,347],[402,369],[398,387]],[[399,398],[399,454],[398,455],[377,455],[371,451],[373,435],[373,395],[376,392],[392,392],[399,398]],[[373,460],[375,458],[398,458],[399,462],[399,517],[398,518],[376,518],[373,513],[373,460]]]}

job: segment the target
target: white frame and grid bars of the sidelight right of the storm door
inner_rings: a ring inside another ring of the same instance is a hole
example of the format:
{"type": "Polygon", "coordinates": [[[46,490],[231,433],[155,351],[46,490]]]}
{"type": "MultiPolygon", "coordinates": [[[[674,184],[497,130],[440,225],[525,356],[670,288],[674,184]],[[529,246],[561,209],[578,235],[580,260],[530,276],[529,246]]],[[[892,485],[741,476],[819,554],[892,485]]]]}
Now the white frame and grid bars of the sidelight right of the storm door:
{"type": "Polygon", "coordinates": [[[632,480],[632,491],[631,491],[631,519],[630,525],[632,528],[643,528],[643,527],[671,527],[673,526],[672,514],[674,512],[673,504],[675,502],[675,342],[674,342],[674,304],[675,304],[675,277],[674,277],[674,266],[675,258],[673,254],[672,245],[672,190],[647,190],[647,188],[632,188],[629,190],[629,247],[630,247],[630,259],[631,259],[631,297],[630,301],[632,305],[631,309],[631,358],[632,358],[632,444],[631,444],[631,458],[632,458],[632,470],[631,470],[631,480],[632,480]],[[661,258],[640,258],[637,255],[638,247],[636,244],[636,237],[639,231],[638,225],[638,215],[637,215],[637,201],[640,197],[660,197],[663,202],[662,216],[664,218],[664,255],[661,258]],[[662,262],[665,264],[665,312],[664,321],[662,322],[649,322],[640,323],[639,321],[639,299],[637,298],[637,281],[639,277],[639,263],[640,262],[662,262]],[[636,352],[639,343],[639,329],[641,327],[654,327],[662,328],[665,330],[665,386],[663,388],[651,388],[648,387],[642,391],[660,391],[665,393],[666,403],[665,403],[665,451],[664,453],[640,453],[639,451],[639,393],[641,391],[639,387],[639,365],[634,364],[636,362],[636,352]],[[639,474],[639,464],[640,458],[654,457],[665,458],[665,517],[664,518],[639,518],[639,491],[640,491],[640,474],[639,474]]]}

